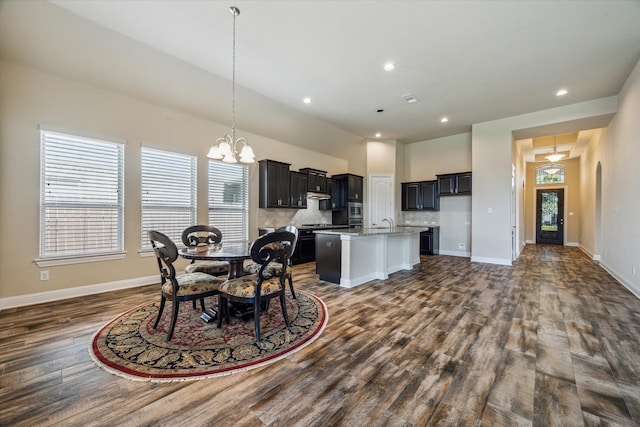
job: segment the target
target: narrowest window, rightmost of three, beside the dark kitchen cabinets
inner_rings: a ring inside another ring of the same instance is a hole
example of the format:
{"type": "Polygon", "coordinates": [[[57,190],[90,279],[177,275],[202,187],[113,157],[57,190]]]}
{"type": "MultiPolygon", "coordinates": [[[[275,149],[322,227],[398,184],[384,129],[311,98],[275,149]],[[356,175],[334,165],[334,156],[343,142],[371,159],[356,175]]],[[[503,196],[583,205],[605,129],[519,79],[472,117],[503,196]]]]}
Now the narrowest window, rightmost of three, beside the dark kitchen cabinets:
{"type": "Polygon", "coordinates": [[[249,227],[248,167],[209,160],[209,224],[223,240],[247,240],[249,227]]]}

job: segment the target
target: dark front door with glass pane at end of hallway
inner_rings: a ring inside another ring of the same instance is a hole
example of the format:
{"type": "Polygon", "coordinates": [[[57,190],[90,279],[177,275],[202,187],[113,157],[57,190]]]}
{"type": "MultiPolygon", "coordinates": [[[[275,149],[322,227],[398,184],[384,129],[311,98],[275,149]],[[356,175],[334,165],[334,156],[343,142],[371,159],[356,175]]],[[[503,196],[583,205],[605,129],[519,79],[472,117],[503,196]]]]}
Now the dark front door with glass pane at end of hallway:
{"type": "Polygon", "coordinates": [[[537,190],[536,243],[564,244],[564,190],[537,190]]]}

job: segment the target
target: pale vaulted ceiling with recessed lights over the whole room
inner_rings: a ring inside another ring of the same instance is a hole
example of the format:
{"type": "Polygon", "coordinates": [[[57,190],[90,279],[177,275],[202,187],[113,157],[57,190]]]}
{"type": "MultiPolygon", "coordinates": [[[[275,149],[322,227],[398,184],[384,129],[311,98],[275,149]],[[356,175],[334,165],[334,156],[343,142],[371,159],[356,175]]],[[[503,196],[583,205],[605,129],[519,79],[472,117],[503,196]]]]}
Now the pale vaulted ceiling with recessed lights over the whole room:
{"type": "Polygon", "coordinates": [[[237,126],[341,158],[616,95],[640,58],[637,0],[5,0],[1,53],[228,124],[232,5],[237,126]]]}

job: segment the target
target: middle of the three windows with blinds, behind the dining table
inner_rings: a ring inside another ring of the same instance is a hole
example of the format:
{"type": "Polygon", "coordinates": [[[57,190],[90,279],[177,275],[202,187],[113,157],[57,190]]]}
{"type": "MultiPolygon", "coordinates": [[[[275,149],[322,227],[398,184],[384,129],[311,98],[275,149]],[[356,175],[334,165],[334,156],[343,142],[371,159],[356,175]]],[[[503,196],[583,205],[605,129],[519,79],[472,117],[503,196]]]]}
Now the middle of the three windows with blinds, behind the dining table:
{"type": "Polygon", "coordinates": [[[142,147],[142,249],[151,249],[149,230],[177,245],[196,222],[196,158],[142,147]]]}

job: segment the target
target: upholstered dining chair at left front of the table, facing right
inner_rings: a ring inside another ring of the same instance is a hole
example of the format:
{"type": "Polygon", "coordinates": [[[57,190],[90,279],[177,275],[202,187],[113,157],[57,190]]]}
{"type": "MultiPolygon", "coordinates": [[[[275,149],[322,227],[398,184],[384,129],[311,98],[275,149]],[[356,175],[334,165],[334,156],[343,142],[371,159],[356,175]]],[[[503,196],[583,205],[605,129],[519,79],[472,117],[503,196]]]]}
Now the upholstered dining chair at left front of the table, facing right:
{"type": "Polygon", "coordinates": [[[176,275],[176,269],[173,266],[178,258],[176,244],[165,234],[154,230],[149,231],[149,239],[160,270],[160,309],[153,328],[158,327],[166,300],[171,300],[173,311],[167,333],[167,341],[171,341],[178,318],[180,301],[193,301],[195,306],[195,301],[199,299],[202,311],[204,311],[204,298],[217,295],[223,280],[200,272],[176,275]]]}

